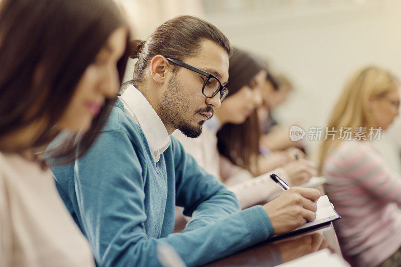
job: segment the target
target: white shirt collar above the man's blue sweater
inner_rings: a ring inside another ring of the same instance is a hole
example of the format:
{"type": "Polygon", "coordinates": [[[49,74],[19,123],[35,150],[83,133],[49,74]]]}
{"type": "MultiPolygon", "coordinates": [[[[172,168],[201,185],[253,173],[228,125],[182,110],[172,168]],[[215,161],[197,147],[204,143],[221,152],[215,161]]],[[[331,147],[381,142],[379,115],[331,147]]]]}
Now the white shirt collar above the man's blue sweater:
{"type": "Polygon", "coordinates": [[[171,143],[170,136],[160,117],[149,101],[133,85],[129,85],[119,99],[124,105],[127,116],[142,129],[152,152],[154,162],[158,162],[160,154],[171,143]]]}

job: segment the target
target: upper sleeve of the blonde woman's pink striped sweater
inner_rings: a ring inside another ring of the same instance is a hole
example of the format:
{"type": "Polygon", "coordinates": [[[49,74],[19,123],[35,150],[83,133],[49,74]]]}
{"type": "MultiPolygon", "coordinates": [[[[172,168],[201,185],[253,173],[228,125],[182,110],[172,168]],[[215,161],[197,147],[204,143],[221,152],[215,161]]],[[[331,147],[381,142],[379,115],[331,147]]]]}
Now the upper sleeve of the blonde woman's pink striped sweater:
{"type": "Polygon", "coordinates": [[[347,144],[338,154],[334,164],[344,177],[358,181],[361,187],[377,198],[401,205],[401,177],[368,144],[356,141],[347,144]]]}

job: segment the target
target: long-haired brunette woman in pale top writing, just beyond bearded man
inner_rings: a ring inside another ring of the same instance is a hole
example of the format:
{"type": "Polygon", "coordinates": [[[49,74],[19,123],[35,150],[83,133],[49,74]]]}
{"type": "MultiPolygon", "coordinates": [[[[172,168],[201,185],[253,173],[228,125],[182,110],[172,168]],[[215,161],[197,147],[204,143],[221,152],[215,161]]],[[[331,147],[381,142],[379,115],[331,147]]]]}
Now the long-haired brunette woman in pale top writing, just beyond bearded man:
{"type": "Polygon", "coordinates": [[[287,163],[286,157],[277,157],[279,164],[268,162],[272,158],[263,159],[264,171],[253,173],[260,155],[256,108],[262,101],[260,89],[267,75],[265,68],[251,53],[235,49],[230,57],[229,95],[215,110],[215,116],[205,123],[202,135],[192,139],[178,131],[173,134],[200,166],[236,194],[242,208],[265,201],[280,191],[269,177],[271,172],[291,185],[301,184],[317,174],[312,162],[300,159],[287,163]],[[267,163],[274,167],[267,167],[267,163]]]}

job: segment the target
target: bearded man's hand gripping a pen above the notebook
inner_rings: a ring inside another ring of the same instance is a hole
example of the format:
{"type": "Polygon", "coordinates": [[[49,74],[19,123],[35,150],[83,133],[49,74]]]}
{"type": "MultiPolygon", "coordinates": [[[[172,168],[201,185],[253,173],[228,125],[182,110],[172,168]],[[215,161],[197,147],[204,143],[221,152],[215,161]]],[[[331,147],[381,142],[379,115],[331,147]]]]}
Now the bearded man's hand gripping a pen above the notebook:
{"type": "Polygon", "coordinates": [[[291,187],[263,207],[275,234],[286,233],[316,218],[316,200],[320,192],[313,188],[291,187]]]}

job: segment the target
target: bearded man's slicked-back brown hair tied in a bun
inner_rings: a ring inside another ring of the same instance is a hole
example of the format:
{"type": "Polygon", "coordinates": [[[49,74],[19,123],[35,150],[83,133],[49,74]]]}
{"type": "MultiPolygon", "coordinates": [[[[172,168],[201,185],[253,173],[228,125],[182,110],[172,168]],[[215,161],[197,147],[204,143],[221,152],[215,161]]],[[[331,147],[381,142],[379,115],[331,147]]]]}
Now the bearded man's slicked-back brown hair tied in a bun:
{"type": "MultiPolygon", "coordinates": [[[[183,61],[196,56],[202,40],[211,40],[231,54],[230,42],[214,25],[192,16],[178,16],[156,28],[146,41],[130,43],[130,58],[137,58],[130,84],[137,85],[143,80],[143,73],[156,55],[183,61]]],[[[176,71],[177,66],[173,67],[176,71]]]]}

